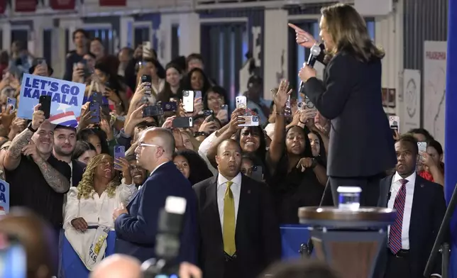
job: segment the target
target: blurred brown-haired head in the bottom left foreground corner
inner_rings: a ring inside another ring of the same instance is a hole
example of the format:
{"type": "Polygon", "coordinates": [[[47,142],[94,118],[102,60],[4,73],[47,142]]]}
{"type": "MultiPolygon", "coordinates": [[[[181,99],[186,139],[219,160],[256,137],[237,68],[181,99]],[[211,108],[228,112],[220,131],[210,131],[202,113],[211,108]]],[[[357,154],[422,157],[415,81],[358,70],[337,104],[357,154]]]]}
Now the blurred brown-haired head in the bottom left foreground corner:
{"type": "Polygon", "coordinates": [[[14,208],[0,218],[0,233],[16,238],[23,246],[27,277],[50,278],[57,273],[54,230],[33,211],[14,208]]]}

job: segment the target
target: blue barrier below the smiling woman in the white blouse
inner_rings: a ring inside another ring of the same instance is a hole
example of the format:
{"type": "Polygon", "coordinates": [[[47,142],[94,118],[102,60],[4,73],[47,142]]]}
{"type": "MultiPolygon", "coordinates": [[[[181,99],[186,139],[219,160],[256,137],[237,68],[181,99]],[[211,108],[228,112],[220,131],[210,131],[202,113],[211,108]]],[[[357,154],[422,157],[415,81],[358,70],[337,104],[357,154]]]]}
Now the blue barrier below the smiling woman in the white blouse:
{"type": "MultiPolygon", "coordinates": [[[[106,238],[107,246],[105,250],[105,257],[114,254],[114,243],[116,242],[116,232],[110,231],[108,238],[106,238]]],[[[89,270],[82,263],[81,259],[73,250],[72,245],[65,237],[62,230],[60,232],[60,276],[61,278],[87,278],[89,277],[89,270]]]]}

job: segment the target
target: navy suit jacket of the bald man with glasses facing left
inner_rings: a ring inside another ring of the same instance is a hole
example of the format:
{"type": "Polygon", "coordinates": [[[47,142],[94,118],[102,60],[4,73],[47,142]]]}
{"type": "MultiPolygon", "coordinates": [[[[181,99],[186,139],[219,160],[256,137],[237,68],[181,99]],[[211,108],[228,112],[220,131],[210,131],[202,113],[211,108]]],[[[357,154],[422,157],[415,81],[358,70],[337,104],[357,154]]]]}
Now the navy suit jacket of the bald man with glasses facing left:
{"type": "Polygon", "coordinates": [[[173,162],[156,169],[128,203],[128,214],[116,218],[116,252],[131,255],[141,262],[155,257],[159,211],[165,207],[168,196],[183,197],[187,201],[177,262],[196,262],[197,202],[192,185],[173,162]]]}

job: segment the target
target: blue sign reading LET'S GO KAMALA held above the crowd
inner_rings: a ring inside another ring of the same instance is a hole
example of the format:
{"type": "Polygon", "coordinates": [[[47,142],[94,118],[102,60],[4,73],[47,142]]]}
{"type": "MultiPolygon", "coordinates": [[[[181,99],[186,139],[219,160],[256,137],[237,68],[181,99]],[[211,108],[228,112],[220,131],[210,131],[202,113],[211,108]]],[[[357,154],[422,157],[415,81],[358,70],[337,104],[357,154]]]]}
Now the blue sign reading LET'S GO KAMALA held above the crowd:
{"type": "Polygon", "coordinates": [[[62,126],[77,126],[85,84],[62,79],[23,74],[18,118],[32,118],[33,107],[41,95],[52,96],[49,121],[62,126]]]}

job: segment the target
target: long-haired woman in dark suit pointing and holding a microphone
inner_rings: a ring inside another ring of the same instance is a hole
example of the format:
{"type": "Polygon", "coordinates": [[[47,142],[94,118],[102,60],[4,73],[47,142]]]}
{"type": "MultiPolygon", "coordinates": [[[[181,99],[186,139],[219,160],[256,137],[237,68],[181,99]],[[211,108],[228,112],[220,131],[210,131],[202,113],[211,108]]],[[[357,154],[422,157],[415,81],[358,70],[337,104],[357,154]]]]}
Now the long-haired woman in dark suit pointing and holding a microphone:
{"type": "MultiPolygon", "coordinates": [[[[327,187],[330,184],[335,205],[336,189],[353,186],[363,190],[361,206],[376,206],[379,180],[397,162],[381,99],[381,59],[385,53],[373,44],[365,20],[353,6],[335,4],[323,8],[321,14],[321,49],[328,61],[324,80],[317,79],[316,70],[309,66],[300,70],[299,77],[304,93],[319,113],[331,120],[327,187]]],[[[316,43],[304,30],[290,26],[299,45],[316,43]]]]}

